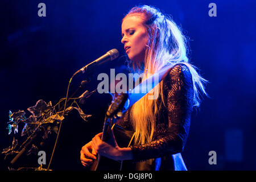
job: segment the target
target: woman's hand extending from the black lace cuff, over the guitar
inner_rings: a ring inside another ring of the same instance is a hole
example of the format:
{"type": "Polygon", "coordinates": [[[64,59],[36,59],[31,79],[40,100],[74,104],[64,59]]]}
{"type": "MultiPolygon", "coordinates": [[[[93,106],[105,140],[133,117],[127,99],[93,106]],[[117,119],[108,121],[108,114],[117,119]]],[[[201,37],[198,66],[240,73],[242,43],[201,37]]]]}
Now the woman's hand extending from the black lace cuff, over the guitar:
{"type": "Polygon", "coordinates": [[[110,133],[108,143],[101,140],[102,133],[95,135],[92,139],[92,147],[94,150],[107,158],[113,160],[130,160],[133,159],[131,148],[120,148],[115,140],[113,130],[110,133]]]}

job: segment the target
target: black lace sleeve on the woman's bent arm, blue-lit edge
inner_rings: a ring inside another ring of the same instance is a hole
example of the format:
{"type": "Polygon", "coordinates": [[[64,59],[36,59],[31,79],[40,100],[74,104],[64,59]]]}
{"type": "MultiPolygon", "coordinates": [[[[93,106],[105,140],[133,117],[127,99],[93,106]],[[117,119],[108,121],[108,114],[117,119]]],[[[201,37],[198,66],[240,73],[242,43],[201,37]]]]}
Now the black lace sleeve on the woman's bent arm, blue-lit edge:
{"type": "Polygon", "coordinates": [[[135,162],[179,153],[187,142],[193,104],[191,73],[186,65],[177,64],[163,81],[168,128],[164,133],[156,132],[151,143],[131,146],[135,162]]]}

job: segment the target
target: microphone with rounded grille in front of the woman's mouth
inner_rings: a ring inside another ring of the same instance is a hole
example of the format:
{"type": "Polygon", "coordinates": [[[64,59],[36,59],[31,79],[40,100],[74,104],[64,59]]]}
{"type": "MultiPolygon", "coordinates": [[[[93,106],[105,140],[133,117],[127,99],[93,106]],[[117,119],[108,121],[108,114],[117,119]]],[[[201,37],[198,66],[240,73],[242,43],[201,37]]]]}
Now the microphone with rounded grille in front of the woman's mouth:
{"type": "Polygon", "coordinates": [[[109,60],[112,61],[116,59],[118,56],[119,56],[119,52],[117,51],[117,49],[111,49],[110,51],[106,52],[105,55],[99,57],[98,59],[94,60],[92,63],[89,63],[88,65],[85,65],[84,67],[79,69],[79,71],[77,71],[74,75],[80,72],[85,73],[87,70],[94,69],[98,65],[106,63],[109,60]]]}

